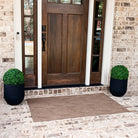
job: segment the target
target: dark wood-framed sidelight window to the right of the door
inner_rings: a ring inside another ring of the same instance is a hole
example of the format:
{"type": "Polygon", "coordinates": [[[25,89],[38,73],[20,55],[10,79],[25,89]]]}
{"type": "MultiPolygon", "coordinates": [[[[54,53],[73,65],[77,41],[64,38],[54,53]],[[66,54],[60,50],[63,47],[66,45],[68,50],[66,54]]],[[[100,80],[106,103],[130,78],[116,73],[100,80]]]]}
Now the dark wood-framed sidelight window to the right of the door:
{"type": "Polygon", "coordinates": [[[101,82],[106,0],[94,1],[91,83],[101,82]]]}

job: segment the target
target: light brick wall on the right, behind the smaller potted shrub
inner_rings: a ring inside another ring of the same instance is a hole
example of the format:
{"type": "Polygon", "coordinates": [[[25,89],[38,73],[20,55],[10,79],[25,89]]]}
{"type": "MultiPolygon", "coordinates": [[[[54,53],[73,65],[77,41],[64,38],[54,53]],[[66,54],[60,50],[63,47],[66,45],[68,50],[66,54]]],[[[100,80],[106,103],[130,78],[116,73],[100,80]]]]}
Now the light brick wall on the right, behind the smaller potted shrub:
{"type": "Polygon", "coordinates": [[[130,76],[128,91],[138,92],[138,1],[116,0],[112,66],[123,64],[130,76]]]}

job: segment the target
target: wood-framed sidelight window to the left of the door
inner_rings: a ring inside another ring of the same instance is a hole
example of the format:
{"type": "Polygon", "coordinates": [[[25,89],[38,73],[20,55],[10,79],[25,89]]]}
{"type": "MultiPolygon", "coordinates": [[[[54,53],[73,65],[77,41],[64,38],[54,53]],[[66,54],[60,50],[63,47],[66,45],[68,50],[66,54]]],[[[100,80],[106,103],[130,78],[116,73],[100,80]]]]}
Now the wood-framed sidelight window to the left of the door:
{"type": "MultiPolygon", "coordinates": [[[[32,85],[36,85],[37,63],[37,0],[22,0],[22,45],[23,45],[23,71],[25,78],[29,78],[32,85]]],[[[30,85],[31,86],[31,85],[30,85]]]]}

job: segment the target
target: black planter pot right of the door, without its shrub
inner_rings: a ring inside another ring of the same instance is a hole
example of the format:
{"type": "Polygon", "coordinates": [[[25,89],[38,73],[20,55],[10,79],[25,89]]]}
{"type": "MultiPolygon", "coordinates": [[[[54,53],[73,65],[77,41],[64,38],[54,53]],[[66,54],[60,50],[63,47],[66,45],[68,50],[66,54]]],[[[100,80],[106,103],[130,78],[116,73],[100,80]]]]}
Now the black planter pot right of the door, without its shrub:
{"type": "Polygon", "coordinates": [[[110,80],[110,92],[112,95],[122,97],[127,91],[128,80],[117,80],[111,78],[110,80]]]}

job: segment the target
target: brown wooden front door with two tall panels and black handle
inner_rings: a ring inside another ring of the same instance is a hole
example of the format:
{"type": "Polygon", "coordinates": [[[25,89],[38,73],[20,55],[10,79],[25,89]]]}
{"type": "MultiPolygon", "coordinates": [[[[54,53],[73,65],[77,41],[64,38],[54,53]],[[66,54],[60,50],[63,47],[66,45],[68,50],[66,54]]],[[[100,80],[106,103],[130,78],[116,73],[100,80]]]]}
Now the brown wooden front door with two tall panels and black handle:
{"type": "Polygon", "coordinates": [[[84,84],[88,0],[42,0],[42,81],[84,84]]]}

